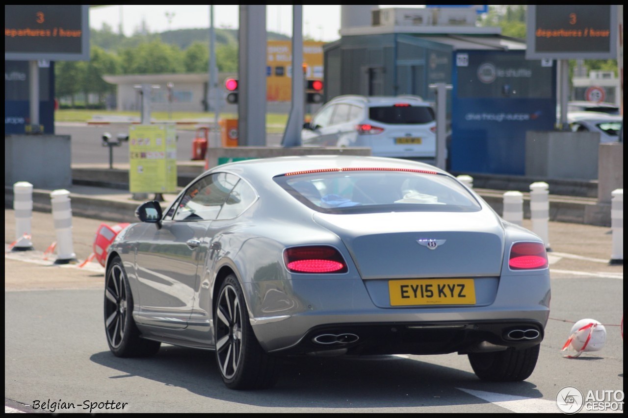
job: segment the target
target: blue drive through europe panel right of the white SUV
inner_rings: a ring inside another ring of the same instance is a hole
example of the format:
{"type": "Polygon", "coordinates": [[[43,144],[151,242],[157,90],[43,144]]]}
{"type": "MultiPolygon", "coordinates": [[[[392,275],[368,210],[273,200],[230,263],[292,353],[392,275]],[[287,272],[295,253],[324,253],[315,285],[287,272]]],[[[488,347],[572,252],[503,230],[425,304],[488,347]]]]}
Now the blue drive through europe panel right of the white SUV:
{"type": "Polygon", "coordinates": [[[456,51],[450,169],[525,174],[526,132],[556,122],[556,68],[524,51],[456,51]]]}

